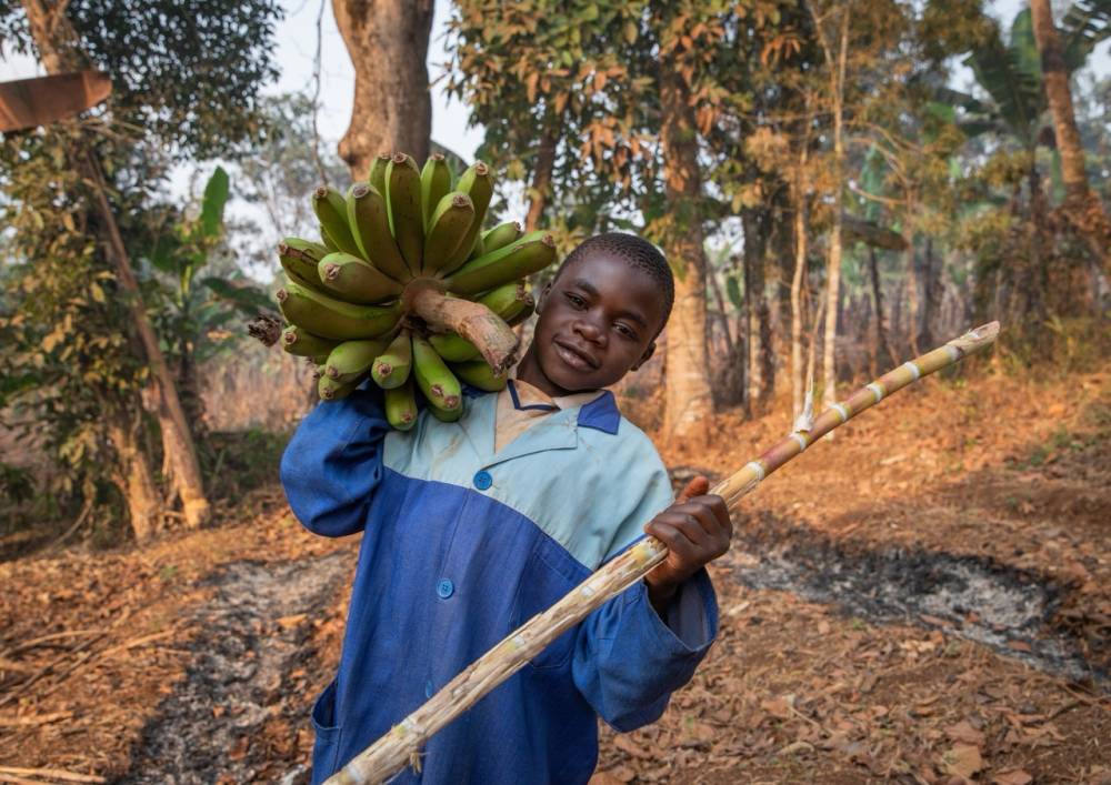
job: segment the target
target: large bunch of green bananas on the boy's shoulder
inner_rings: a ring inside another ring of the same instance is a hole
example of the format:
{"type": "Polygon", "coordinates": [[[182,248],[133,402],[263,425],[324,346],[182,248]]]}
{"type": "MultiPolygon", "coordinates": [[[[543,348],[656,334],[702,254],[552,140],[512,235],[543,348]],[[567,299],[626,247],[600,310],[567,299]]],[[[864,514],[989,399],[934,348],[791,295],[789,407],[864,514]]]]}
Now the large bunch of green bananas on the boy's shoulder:
{"type": "Polygon", "coordinates": [[[331,401],[368,376],[401,430],[417,420],[417,391],[444,421],[462,413],[461,382],[500,390],[518,348],[512,325],[533,311],[524,276],[556,259],[550,234],[516,222],[482,231],[493,195],[480,162],[456,180],[443,155],[418,169],[379,155],[344,197],[312,197],[321,242],[287,238],[278,303],[282,348],[316,365],[331,401]]]}

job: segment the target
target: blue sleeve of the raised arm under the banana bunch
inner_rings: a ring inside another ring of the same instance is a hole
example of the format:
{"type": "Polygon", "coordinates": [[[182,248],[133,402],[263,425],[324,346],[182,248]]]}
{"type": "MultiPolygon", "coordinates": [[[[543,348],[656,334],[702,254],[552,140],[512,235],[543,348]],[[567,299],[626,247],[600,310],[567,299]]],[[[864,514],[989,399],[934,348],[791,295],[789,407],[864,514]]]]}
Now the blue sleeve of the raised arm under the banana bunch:
{"type": "Polygon", "coordinates": [[[370,390],[319,403],[301,421],[282,454],[281,483],[306,529],[327,537],[362,531],[389,430],[381,397],[370,390]]]}

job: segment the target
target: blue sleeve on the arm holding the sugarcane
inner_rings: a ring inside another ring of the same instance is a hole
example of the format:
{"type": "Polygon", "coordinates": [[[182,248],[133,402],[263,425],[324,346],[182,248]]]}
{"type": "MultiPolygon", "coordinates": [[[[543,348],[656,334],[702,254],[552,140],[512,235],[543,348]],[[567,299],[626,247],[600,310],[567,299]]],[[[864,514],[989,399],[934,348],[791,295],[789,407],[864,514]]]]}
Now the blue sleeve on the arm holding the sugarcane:
{"type": "MultiPolygon", "coordinates": [[[[657,457],[657,462],[659,459],[657,457]]],[[[608,558],[644,536],[643,525],[673,501],[660,463],[608,558]]],[[[718,633],[718,601],[705,570],[683,583],[661,618],[638,581],[583,620],[572,676],[599,716],[620,732],[655,722],[687,684],[718,633]]]]}

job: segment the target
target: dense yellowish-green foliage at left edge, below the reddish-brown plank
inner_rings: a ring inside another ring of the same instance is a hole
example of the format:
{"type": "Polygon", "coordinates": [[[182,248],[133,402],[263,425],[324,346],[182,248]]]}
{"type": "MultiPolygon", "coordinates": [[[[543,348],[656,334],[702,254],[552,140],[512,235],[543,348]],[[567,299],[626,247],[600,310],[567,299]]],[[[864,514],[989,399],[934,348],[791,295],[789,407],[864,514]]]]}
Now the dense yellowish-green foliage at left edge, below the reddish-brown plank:
{"type": "MultiPolygon", "coordinates": [[[[103,430],[111,411],[141,411],[146,369],[119,325],[129,321],[116,276],[98,248],[87,183],[68,165],[74,132],[8,137],[0,223],[0,410],[63,466],[43,492],[96,493],[114,456],[103,430]]],[[[107,150],[101,154],[107,158],[107,150]]],[[[124,209],[146,194],[121,194],[124,209]]]]}

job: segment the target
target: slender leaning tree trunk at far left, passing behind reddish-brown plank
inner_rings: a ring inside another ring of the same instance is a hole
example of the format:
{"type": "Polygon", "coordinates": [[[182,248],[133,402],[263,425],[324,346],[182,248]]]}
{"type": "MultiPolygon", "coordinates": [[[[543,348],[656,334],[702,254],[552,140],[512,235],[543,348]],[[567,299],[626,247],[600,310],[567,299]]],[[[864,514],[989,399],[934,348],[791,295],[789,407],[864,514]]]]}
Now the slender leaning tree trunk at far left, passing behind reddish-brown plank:
{"type": "MultiPolygon", "coordinates": [[[[66,18],[64,6],[66,3],[61,3],[57,8],[51,8],[43,0],[24,0],[23,3],[39,56],[50,73],[79,70],[84,64],[77,33],[66,18]]],[[[116,264],[117,281],[127,294],[134,330],[139,334],[147,362],[150,364],[152,383],[157,391],[156,414],[168,450],[167,460],[172,467],[171,485],[181,497],[186,524],[191,527],[200,526],[208,520],[210,506],[204,495],[197,449],[181,409],[173,376],[147,316],[139,283],[131,268],[123,239],[120,236],[119,225],[108,203],[106,195],[108,187],[100,163],[87,145],[74,151],[73,163],[92,184],[92,208],[102,223],[108,253],[116,264]]]]}

